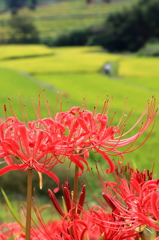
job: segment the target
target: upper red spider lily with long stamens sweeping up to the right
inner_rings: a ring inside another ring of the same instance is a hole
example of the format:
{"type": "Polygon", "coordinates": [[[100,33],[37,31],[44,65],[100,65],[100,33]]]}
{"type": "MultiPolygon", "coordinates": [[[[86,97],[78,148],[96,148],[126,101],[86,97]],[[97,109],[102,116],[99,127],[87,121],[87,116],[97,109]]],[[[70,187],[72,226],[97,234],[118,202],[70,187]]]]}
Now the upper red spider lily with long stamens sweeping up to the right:
{"type": "MultiPolygon", "coordinates": [[[[121,120],[118,126],[108,126],[108,116],[99,113],[94,114],[87,110],[80,110],[79,107],[74,107],[70,111],[57,113],[55,120],[62,123],[66,128],[68,135],[66,136],[66,142],[68,146],[74,147],[75,154],[68,154],[69,159],[77,164],[83,170],[83,164],[86,163],[86,159],[89,157],[89,150],[93,150],[103,156],[108,162],[110,169],[107,173],[114,171],[114,163],[109,156],[119,155],[123,159],[123,154],[136,150],[140,147],[146,139],[138,147],[134,147],[138,137],[143,134],[150,124],[154,121],[156,116],[155,99],[152,98],[148,103],[143,113],[134,126],[124,133],[121,120]],[[138,133],[132,137],[125,138],[146,116],[145,123],[142,123],[138,133]],[[127,146],[126,149],[122,149],[127,146]],[[122,150],[119,150],[122,149],[122,150]],[[84,158],[81,158],[84,156],[84,158]]],[[[129,116],[128,116],[129,118],[129,116]]],[[[128,119],[127,118],[127,119],[128,119]]]]}

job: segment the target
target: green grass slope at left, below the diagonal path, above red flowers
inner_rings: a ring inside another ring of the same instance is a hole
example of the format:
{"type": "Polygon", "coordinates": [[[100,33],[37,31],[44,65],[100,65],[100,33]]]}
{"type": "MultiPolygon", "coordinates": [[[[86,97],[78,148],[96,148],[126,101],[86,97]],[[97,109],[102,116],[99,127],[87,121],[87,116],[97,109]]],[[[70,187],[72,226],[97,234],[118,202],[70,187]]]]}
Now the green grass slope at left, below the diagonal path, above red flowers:
{"type": "MultiPolygon", "coordinates": [[[[35,120],[36,113],[33,110],[32,101],[34,101],[37,107],[39,93],[41,93],[41,116],[48,116],[42,83],[37,82],[36,79],[31,78],[27,74],[5,68],[0,68],[0,79],[0,118],[5,117],[3,111],[4,105],[7,105],[8,116],[13,115],[9,106],[12,105],[13,111],[21,119],[35,120]]],[[[51,108],[54,109],[56,102],[55,90],[45,87],[45,94],[50,99],[51,108]]]]}

